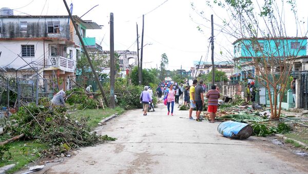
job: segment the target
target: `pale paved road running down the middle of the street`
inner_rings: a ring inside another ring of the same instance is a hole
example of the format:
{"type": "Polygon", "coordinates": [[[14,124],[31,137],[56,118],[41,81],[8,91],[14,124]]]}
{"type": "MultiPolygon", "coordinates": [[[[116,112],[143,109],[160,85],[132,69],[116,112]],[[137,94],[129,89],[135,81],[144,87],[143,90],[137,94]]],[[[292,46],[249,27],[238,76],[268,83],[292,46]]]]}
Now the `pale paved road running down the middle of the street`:
{"type": "Polygon", "coordinates": [[[230,140],[219,123],[167,116],[164,105],[142,115],[128,111],[97,130],[118,140],[82,148],[41,173],[308,173],[308,161],[266,141],[230,140]]]}

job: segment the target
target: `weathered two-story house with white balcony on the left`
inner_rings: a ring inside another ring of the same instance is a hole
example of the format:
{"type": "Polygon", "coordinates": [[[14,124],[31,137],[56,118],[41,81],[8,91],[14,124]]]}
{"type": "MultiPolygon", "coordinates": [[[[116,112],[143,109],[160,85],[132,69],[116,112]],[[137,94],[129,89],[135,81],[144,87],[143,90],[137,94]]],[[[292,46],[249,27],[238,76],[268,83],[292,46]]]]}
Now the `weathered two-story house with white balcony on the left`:
{"type": "MultiPolygon", "coordinates": [[[[101,49],[87,29],[101,29],[92,21],[73,16],[87,49],[101,49]]],[[[83,49],[67,15],[1,15],[0,71],[20,78],[57,79],[59,89],[70,88],[76,59],[83,49]]]]}

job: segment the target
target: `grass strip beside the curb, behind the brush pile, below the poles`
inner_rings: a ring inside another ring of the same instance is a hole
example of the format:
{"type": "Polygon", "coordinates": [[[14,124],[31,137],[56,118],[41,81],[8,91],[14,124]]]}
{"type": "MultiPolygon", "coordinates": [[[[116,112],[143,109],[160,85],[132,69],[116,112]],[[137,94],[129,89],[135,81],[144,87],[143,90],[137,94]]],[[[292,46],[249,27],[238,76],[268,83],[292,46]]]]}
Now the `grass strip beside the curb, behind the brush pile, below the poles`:
{"type": "Polygon", "coordinates": [[[105,108],[103,109],[85,109],[83,111],[76,111],[71,113],[71,116],[75,116],[77,119],[80,119],[82,117],[89,117],[88,124],[91,126],[91,128],[95,128],[98,126],[98,123],[100,121],[114,113],[118,113],[118,115],[124,113],[124,109],[121,107],[116,107],[114,109],[105,108]]]}

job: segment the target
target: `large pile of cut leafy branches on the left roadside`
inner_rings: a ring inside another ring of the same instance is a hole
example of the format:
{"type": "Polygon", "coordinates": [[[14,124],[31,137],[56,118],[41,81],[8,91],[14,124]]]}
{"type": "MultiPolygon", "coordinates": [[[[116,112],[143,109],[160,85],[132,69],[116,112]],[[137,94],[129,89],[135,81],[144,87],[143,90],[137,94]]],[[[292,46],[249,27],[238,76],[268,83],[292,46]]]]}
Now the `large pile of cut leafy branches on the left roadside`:
{"type": "Polygon", "coordinates": [[[65,108],[36,107],[35,103],[30,103],[21,107],[10,121],[11,135],[25,134],[26,139],[37,140],[53,149],[69,150],[102,141],[101,135],[91,132],[86,118],[71,118],[65,108]]]}

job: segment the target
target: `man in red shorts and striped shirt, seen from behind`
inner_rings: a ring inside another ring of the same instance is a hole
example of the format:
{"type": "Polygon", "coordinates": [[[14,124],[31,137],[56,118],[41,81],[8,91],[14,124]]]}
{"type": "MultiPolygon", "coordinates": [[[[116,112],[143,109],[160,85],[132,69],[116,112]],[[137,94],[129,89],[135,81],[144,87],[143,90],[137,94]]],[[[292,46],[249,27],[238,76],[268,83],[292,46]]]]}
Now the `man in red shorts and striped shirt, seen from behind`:
{"type": "Polygon", "coordinates": [[[215,85],[211,86],[211,90],[207,92],[206,98],[208,98],[207,112],[209,112],[210,115],[210,123],[215,123],[215,117],[218,108],[218,99],[220,98],[220,93],[216,90],[215,85]]]}

